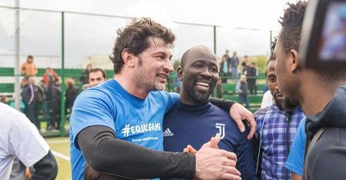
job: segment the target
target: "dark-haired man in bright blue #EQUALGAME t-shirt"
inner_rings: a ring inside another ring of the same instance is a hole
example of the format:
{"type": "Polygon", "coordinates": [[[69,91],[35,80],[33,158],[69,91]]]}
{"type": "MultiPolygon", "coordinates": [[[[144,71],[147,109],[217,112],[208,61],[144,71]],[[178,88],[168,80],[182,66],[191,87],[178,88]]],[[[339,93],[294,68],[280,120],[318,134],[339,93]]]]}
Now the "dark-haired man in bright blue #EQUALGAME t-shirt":
{"type": "MultiPolygon", "coordinates": [[[[111,57],[115,78],[86,89],[73,106],[73,179],[83,179],[86,163],[100,173],[136,179],[240,179],[235,154],[208,144],[195,155],[162,152],[163,116],[179,98],[162,91],[173,71],[174,39],[171,30],[148,18],[118,30],[111,57]]],[[[253,115],[239,106],[230,109],[237,124],[244,127],[241,119],[247,118],[253,125],[253,115]]]]}

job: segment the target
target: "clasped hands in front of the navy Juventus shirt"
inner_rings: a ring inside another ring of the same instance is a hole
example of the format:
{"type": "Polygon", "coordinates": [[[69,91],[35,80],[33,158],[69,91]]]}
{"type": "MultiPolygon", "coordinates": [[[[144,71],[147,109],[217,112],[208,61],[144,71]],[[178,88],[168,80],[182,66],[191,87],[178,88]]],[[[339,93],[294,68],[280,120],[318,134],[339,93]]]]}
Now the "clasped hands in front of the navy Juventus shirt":
{"type": "Polygon", "coordinates": [[[242,179],[239,170],[235,168],[237,155],[226,150],[219,150],[220,138],[220,134],[217,133],[198,151],[191,145],[184,148],[183,152],[196,156],[195,179],[242,179]]]}

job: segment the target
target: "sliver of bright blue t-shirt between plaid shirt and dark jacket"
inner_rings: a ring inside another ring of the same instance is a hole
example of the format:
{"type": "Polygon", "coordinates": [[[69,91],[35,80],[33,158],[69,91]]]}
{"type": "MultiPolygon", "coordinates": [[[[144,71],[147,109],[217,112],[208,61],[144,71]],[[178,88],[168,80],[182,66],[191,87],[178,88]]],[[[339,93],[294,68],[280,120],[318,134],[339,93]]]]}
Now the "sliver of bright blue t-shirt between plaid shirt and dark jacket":
{"type": "Polygon", "coordinates": [[[304,152],[305,152],[305,118],[300,121],[300,124],[295,134],[289,158],[285,163],[285,167],[291,172],[302,176],[304,167],[304,152]]]}

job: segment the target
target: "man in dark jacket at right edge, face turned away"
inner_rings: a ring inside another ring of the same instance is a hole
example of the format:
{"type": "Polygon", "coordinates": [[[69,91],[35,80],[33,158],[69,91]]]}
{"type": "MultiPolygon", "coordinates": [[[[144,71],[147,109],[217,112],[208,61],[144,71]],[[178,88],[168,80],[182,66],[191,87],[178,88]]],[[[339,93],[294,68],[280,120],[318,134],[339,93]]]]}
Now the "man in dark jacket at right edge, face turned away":
{"type": "Polygon", "coordinates": [[[284,102],[301,105],[307,116],[303,179],[346,177],[346,72],[304,69],[298,53],[307,2],[289,3],[281,18],[273,57],[284,102]],[[311,141],[322,129],[316,143],[311,141]]]}

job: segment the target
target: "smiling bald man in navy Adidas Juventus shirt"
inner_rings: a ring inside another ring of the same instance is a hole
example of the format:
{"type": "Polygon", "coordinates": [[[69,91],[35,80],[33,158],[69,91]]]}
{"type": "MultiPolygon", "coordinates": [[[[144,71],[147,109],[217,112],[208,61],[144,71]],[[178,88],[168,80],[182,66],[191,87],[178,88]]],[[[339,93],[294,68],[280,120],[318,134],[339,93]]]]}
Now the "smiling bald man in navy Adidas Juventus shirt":
{"type": "Polygon", "coordinates": [[[237,154],[236,168],[242,179],[256,179],[253,147],[246,132],[226,111],[210,104],[212,90],[219,80],[217,58],[206,46],[195,46],[183,54],[177,76],[181,83],[179,102],[164,118],[163,147],[165,151],[180,152],[187,145],[199,149],[210,136],[221,135],[219,148],[237,154]]]}

